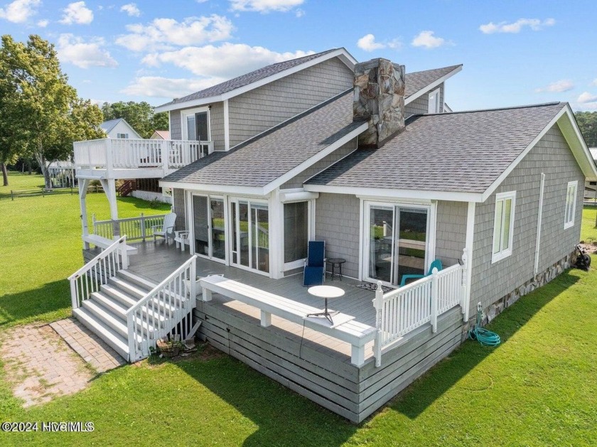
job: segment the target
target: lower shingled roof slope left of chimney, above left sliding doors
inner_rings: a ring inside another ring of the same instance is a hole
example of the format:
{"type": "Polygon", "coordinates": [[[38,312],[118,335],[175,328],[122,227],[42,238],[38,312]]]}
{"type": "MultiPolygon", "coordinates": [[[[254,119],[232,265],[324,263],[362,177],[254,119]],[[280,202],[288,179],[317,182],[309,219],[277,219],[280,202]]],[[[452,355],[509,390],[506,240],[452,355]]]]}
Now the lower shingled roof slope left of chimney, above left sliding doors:
{"type": "Polygon", "coordinates": [[[260,187],[271,183],[356,129],[348,90],[249,139],[213,152],[163,178],[166,182],[260,187]]]}

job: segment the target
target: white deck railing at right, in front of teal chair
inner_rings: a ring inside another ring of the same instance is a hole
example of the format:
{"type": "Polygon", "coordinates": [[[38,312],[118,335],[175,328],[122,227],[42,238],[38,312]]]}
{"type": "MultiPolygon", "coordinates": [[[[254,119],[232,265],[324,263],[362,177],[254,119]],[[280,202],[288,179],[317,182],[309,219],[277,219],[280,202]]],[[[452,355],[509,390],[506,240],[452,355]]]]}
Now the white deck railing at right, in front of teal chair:
{"type": "Polygon", "coordinates": [[[377,337],[373,346],[375,365],[381,365],[382,352],[392,347],[404,335],[431,323],[435,333],[441,313],[458,305],[464,308],[466,268],[453,265],[394,291],[383,293],[377,282],[373,306],[377,337]]]}

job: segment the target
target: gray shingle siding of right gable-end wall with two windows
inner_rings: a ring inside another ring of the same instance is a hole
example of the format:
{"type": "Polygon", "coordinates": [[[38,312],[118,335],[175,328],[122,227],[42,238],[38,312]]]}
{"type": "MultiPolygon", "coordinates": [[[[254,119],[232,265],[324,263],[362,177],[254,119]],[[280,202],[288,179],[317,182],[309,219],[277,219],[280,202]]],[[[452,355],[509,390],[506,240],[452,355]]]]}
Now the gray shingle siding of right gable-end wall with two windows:
{"type": "Polygon", "coordinates": [[[470,316],[479,301],[487,308],[533,277],[541,173],[545,173],[545,186],[539,273],[572,252],[579,241],[584,176],[555,125],[495,191],[516,190],[512,254],[495,264],[491,263],[495,194],[476,207],[470,316]],[[564,230],[566,188],[574,180],[579,181],[576,217],[574,226],[564,230]]]}

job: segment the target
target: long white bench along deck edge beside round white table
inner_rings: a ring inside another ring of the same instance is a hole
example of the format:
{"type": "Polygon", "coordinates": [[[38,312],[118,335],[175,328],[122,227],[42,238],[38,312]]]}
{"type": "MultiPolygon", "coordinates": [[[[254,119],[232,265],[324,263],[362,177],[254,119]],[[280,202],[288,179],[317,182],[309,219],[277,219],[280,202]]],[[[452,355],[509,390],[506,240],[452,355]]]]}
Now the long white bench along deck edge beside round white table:
{"type": "MultiPolygon", "coordinates": [[[[223,276],[207,276],[200,280],[203,288],[203,301],[210,301],[212,293],[241,301],[259,308],[261,311],[261,325],[264,328],[271,325],[271,315],[276,315],[285,320],[305,325],[306,328],[337,338],[352,345],[350,361],[353,365],[360,366],[365,363],[365,345],[375,339],[375,328],[369,325],[350,320],[347,323],[330,327],[323,325],[311,318],[306,318],[309,313],[321,312],[321,309],[298,303],[283,296],[274,295],[261,289],[256,289],[247,284],[242,284],[232,279],[226,279],[223,276]]],[[[345,314],[339,313],[334,318],[345,318],[345,314]]]]}

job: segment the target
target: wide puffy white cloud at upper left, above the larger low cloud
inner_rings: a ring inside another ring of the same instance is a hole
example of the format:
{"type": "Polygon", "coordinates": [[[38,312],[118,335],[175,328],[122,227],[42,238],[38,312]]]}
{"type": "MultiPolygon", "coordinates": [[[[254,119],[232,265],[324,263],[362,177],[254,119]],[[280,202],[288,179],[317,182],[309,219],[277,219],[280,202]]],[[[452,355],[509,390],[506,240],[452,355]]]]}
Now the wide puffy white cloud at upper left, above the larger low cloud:
{"type": "Polygon", "coordinates": [[[128,25],[130,34],[119,36],[116,43],[129,50],[171,49],[171,45],[197,45],[230,38],[232,22],[213,14],[209,17],[188,17],[182,22],[173,18],[154,18],[148,25],[128,25]]]}

